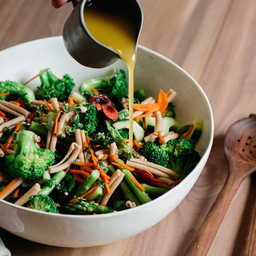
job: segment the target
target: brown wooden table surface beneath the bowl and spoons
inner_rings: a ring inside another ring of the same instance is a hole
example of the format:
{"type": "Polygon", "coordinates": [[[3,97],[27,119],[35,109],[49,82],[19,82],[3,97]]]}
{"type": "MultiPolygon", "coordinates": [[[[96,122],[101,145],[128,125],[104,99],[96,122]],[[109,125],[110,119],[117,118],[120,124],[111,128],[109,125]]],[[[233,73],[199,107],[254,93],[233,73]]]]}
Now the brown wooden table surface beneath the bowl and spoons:
{"type": "MultiPolygon", "coordinates": [[[[256,1],[141,0],[141,5],[145,19],[140,43],[187,70],[211,102],[215,140],[202,175],[171,214],[139,235],[105,246],[67,249],[1,230],[14,256],[181,256],[221,189],[228,171],[223,151],[226,130],[256,110],[256,1]]],[[[68,4],[54,10],[50,0],[0,0],[0,49],[61,35],[71,9],[68,4]]],[[[256,195],[252,184],[250,179],[243,182],[209,256],[236,255],[256,195]]]]}

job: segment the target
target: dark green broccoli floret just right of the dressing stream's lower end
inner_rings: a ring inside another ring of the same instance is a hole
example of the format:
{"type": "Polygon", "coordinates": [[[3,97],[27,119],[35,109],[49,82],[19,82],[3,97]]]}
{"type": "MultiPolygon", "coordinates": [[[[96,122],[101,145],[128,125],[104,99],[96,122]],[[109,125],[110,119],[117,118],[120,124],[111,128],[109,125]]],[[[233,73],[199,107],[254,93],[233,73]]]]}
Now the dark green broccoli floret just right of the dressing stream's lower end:
{"type": "Polygon", "coordinates": [[[166,166],[169,157],[154,142],[147,141],[140,149],[139,153],[143,155],[149,162],[153,162],[162,166],[166,166]]]}

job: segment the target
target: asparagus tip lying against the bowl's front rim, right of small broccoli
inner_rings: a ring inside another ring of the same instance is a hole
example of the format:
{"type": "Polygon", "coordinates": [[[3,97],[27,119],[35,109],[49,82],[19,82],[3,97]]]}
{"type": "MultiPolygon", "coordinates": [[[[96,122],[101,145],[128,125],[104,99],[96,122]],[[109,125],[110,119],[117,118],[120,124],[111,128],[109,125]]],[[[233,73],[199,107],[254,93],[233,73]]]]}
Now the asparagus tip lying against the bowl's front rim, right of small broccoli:
{"type": "Polygon", "coordinates": [[[98,203],[93,203],[89,202],[88,200],[85,199],[78,199],[75,202],[70,202],[61,205],[60,207],[60,212],[64,214],[72,214],[72,213],[111,213],[114,212],[115,210],[107,207],[107,206],[102,206],[99,205],[98,203]]]}

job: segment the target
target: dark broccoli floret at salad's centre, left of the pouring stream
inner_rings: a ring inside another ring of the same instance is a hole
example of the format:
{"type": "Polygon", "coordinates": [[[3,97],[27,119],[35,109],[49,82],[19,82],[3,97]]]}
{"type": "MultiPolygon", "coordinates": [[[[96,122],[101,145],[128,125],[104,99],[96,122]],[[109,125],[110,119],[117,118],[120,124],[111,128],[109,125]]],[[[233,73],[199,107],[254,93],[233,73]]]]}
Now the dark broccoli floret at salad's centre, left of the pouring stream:
{"type": "Polygon", "coordinates": [[[80,120],[83,124],[85,134],[90,135],[95,132],[97,126],[99,125],[99,118],[97,115],[97,108],[92,103],[88,103],[86,107],[87,110],[82,115],[80,120]]]}

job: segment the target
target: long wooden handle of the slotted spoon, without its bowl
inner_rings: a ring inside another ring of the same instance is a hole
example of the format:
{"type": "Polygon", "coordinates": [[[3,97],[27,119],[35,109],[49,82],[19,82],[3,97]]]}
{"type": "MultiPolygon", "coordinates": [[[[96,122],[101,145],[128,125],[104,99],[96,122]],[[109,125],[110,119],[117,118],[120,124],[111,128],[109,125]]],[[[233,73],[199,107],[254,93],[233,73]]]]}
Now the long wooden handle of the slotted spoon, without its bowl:
{"type": "Polygon", "coordinates": [[[231,173],[233,173],[233,175],[228,175],[222,190],[219,195],[217,195],[214,204],[202,222],[201,227],[195,234],[185,256],[207,255],[222,220],[229,208],[229,204],[242,182],[242,179],[236,179],[234,177],[234,172],[231,173]]]}

